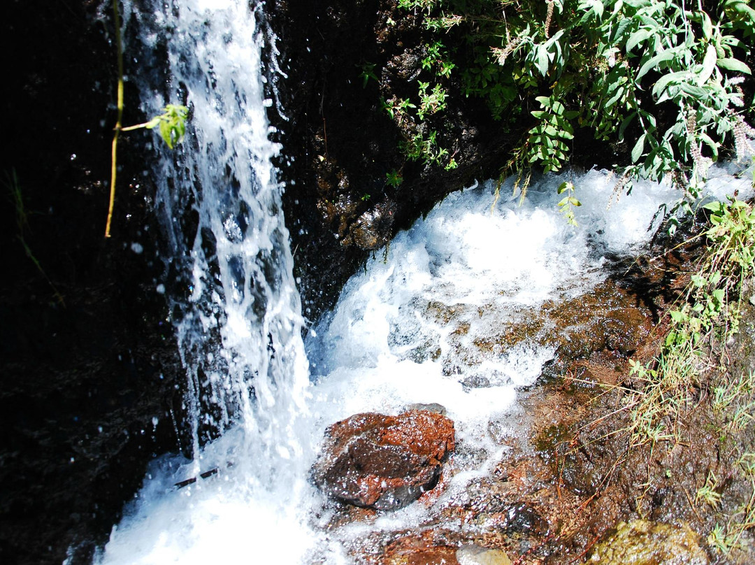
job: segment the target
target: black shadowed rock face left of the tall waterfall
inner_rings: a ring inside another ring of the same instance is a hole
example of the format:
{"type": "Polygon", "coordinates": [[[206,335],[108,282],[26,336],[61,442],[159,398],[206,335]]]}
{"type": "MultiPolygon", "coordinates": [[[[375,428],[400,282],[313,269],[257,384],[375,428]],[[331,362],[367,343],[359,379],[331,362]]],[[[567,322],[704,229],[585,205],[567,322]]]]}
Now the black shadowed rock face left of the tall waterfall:
{"type": "MultiPolygon", "coordinates": [[[[0,110],[2,563],[87,563],[146,462],[177,449],[183,371],[156,292],[159,227],[140,134],[121,138],[103,237],[116,95],[108,9],[5,5],[14,50],[0,110]]],[[[125,123],[143,121],[128,86],[126,106],[125,123]]]]}

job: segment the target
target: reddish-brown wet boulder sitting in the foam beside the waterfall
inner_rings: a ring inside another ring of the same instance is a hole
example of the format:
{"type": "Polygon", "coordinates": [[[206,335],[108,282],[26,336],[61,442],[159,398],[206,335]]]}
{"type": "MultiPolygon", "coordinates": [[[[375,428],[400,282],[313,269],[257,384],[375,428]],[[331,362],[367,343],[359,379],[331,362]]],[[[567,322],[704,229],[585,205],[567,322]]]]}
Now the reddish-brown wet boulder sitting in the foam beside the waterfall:
{"type": "Polygon", "coordinates": [[[453,421],[436,412],[356,414],[325,432],[313,480],[331,499],[402,508],[436,486],[454,440],[453,421]]]}

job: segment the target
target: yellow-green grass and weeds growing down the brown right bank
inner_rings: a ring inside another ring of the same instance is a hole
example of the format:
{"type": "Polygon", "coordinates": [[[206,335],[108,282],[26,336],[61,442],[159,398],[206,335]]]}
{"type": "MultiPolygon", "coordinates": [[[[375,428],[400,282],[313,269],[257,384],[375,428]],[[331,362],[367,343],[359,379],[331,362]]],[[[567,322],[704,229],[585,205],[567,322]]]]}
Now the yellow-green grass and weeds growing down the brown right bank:
{"type": "MultiPolygon", "coordinates": [[[[669,311],[670,329],[661,354],[651,363],[631,362],[631,372],[643,381],[631,407],[633,443],[653,440],[647,434],[661,425],[674,434],[673,422],[681,406],[688,402],[692,387],[702,369],[715,368],[714,352],[725,354],[726,342],[738,331],[741,288],[744,279],[755,276],[755,209],[735,199],[712,202],[710,227],[698,237],[708,248],[693,273],[680,306],[669,311]],[[649,423],[646,425],[646,420],[649,423]]],[[[753,406],[749,391],[752,375],[713,388],[713,409],[735,406],[730,431],[741,429],[751,419],[753,406]],[[747,395],[745,395],[747,393],[747,395]]]]}

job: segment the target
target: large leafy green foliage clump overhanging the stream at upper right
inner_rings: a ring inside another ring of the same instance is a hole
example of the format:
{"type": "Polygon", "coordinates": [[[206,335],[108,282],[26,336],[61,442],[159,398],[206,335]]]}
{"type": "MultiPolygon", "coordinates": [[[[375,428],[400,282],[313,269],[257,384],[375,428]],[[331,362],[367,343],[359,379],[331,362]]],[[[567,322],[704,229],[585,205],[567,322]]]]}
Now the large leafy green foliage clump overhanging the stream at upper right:
{"type": "Polygon", "coordinates": [[[535,120],[503,171],[525,175],[522,191],[529,168],[568,162],[577,128],[627,147],[624,190],[636,178],[672,178],[697,196],[723,147],[752,153],[742,83],[755,10],[746,0],[399,0],[399,8],[424,17],[433,51],[453,61],[443,68],[502,125],[535,120]]]}

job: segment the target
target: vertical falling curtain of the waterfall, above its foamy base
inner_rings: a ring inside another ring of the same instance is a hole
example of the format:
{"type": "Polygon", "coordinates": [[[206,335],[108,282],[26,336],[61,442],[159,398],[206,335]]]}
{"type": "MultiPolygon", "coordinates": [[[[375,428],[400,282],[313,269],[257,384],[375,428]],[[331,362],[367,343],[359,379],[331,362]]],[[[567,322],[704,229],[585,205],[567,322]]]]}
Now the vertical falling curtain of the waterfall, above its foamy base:
{"type": "Polygon", "coordinates": [[[143,41],[134,67],[145,112],[176,99],[190,107],[186,142],[175,156],[160,148],[154,176],[193,451],[233,421],[269,444],[273,428],[301,407],[307,366],[271,162],[279,146],[266,114],[273,102],[265,97],[263,14],[230,0],[153,4],[126,2],[124,20],[143,41]]]}

